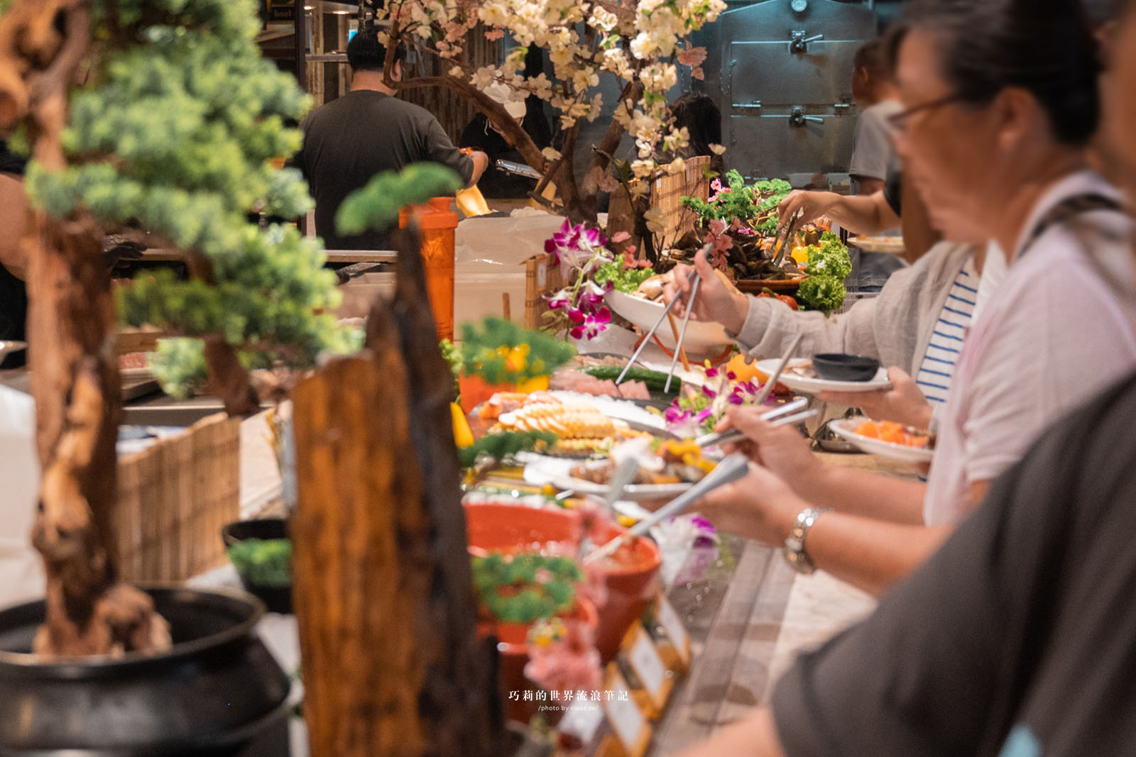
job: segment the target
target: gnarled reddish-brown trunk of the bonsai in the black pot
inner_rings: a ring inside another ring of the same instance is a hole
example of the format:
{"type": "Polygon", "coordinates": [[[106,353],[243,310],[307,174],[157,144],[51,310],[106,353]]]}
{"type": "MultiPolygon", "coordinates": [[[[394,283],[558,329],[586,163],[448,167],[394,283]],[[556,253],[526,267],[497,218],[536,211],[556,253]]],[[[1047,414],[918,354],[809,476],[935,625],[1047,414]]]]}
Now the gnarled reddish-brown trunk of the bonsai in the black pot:
{"type": "MultiPolygon", "coordinates": [[[[89,0],[14,0],[0,20],[0,131],[23,124],[33,157],[65,167],[67,89],[92,37],[89,0]]],[[[102,229],[84,212],[32,211],[28,367],[43,469],[32,540],[47,573],[44,656],[169,646],[150,597],[119,583],[109,514],[115,504],[120,413],[116,318],[102,229]]]]}

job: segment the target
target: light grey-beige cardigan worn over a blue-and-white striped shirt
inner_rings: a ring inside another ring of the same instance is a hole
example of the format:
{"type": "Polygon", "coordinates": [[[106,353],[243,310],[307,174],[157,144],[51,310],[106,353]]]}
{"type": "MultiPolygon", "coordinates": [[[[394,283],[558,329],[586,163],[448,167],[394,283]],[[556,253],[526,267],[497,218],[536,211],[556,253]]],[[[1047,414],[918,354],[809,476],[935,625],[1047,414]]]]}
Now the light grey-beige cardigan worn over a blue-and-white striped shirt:
{"type": "Polygon", "coordinates": [[[742,330],[732,335],[755,358],[776,358],[797,333],[799,355],[846,352],[877,358],[914,376],[971,246],[941,242],[910,268],[892,274],[878,296],[861,300],[834,318],[796,312],[770,297],[750,297],[742,330]]]}

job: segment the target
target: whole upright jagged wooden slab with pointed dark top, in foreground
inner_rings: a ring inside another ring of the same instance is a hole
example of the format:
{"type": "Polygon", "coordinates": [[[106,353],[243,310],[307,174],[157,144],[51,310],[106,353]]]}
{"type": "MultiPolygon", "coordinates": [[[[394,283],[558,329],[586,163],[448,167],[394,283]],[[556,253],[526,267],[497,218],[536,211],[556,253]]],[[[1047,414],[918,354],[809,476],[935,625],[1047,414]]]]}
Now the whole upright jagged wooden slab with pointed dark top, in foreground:
{"type": "Polygon", "coordinates": [[[291,525],[315,757],[502,752],[494,650],[477,641],[450,371],[417,238],[400,241],[369,358],[293,393],[291,525]]]}

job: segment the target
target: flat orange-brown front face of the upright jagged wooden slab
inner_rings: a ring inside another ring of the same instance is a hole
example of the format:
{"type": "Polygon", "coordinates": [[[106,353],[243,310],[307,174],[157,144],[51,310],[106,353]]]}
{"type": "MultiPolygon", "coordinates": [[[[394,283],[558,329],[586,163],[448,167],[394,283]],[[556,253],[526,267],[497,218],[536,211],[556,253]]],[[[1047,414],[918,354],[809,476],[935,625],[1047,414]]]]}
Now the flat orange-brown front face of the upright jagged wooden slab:
{"type": "Polygon", "coordinates": [[[293,600],[314,757],[421,755],[427,735],[429,524],[407,455],[406,370],[396,351],[381,358],[333,362],[293,393],[293,600]]]}

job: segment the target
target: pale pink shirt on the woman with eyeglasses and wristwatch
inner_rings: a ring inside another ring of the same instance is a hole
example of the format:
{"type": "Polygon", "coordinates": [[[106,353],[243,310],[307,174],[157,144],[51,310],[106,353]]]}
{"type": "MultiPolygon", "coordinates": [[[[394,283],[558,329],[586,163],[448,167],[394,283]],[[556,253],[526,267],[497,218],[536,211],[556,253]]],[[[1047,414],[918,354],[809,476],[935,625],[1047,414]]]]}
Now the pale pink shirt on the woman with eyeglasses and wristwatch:
{"type": "Polygon", "coordinates": [[[1051,187],[996,296],[969,329],[938,427],[924,501],[928,524],[961,520],[977,504],[972,483],[996,478],[1050,423],[1136,368],[1130,219],[1079,213],[1022,249],[1045,213],[1086,193],[1120,199],[1092,171],[1051,187]]]}

